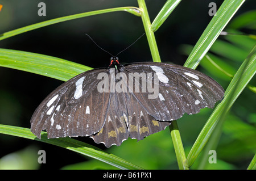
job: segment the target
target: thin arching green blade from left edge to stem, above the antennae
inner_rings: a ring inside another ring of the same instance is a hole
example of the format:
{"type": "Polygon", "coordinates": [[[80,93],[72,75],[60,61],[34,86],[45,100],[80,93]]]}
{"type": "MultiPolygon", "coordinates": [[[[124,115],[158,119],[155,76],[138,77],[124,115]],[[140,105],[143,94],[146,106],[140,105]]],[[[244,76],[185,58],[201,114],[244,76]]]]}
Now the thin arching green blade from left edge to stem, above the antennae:
{"type": "Polygon", "coordinates": [[[131,14],[134,14],[136,16],[141,16],[141,11],[137,7],[115,7],[115,8],[111,8],[111,9],[105,9],[105,10],[83,12],[83,13],[80,13],[80,14],[69,15],[69,16],[64,16],[64,17],[61,17],[61,18],[55,18],[55,19],[47,20],[47,21],[44,21],[44,22],[32,24],[30,26],[26,26],[26,27],[18,28],[16,30],[12,30],[12,31],[9,31],[9,32],[2,33],[0,35],[0,40],[7,39],[8,37],[19,35],[20,33],[24,33],[24,32],[27,32],[27,31],[35,30],[36,28],[49,26],[51,24],[56,24],[56,23],[60,23],[60,22],[65,22],[67,20],[72,20],[72,19],[77,19],[77,18],[84,18],[86,16],[104,14],[106,12],[115,12],[115,11],[126,11],[126,12],[130,12],[131,14]]]}

